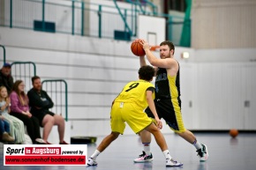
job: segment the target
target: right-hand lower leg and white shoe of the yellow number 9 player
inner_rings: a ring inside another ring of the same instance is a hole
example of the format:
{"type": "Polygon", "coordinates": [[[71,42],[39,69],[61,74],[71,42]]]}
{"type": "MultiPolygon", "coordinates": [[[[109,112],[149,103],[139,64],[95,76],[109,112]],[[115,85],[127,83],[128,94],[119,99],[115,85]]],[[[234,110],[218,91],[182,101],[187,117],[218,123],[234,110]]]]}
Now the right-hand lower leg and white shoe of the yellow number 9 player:
{"type": "Polygon", "coordinates": [[[155,139],[156,143],[159,145],[159,147],[162,150],[163,155],[165,156],[166,166],[183,166],[182,163],[177,162],[176,160],[171,158],[171,156],[169,155],[169,150],[168,150],[168,146],[166,144],[165,138],[163,137],[160,129],[158,129],[154,123],[149,125],[146,128],[146,130],[154,135],[154,139],[155,139]]]}

